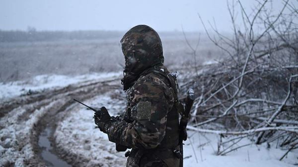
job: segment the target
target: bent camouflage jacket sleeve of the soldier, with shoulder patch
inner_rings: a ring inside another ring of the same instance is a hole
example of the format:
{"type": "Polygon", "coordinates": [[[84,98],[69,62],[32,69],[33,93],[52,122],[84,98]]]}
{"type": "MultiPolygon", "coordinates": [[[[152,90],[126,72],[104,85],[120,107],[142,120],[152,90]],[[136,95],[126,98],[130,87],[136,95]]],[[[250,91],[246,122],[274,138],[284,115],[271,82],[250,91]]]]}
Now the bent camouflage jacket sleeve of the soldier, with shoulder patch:
{"type": "Polygon", "coordinates": [[[128,95],[133,122],[113,122],[107,134],[111,142],[151,149],[160,144],[166,128],[166,115],[173,105],[173,95],[165,83],[152,75],[144,76],[128,95]]]}

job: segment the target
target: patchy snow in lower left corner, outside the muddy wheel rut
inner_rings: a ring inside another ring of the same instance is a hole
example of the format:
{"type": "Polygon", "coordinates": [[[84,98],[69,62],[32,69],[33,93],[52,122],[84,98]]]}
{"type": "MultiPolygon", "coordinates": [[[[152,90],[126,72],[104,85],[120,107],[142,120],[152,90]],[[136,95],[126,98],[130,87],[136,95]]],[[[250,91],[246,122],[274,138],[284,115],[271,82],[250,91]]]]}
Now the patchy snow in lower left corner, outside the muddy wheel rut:
{"type": "MultiPolygon", "coordinates": [[[[38,120],[52,108],[55,102],[47,107],[35,110],[29,115],[26,121],[20,120],[20,117],[26,114],[26,106],[10,111],[0,119],[0,166],[14,162],[15,167],[25,167],[24,162],[30,161],[35,153],[29,141],[29,134],[38,120]],[[5,126],[4,126],[5,125],[5,126]]],[[[57,104],[57,103],[56,103],[57,104]]]]}

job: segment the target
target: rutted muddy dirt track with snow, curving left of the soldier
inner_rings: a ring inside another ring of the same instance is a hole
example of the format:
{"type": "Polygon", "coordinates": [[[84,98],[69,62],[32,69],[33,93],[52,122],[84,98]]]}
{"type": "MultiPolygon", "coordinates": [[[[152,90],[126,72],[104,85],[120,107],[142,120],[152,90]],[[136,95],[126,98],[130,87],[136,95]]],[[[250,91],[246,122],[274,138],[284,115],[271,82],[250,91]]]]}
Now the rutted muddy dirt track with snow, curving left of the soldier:
{"type": "Polygon", "coordinates": [[[67,153],[56,148],[53,133],[70,109],[78,106],[73,99],[84,101],[119,87],[119,78],[85,81],[0,104],[0,166],[49,166],[42,158],[42,149],[38,145],[40,133],[49,127],[52,129],[49,136],[54,148],[52,152],[67,159],[67,153]]]}

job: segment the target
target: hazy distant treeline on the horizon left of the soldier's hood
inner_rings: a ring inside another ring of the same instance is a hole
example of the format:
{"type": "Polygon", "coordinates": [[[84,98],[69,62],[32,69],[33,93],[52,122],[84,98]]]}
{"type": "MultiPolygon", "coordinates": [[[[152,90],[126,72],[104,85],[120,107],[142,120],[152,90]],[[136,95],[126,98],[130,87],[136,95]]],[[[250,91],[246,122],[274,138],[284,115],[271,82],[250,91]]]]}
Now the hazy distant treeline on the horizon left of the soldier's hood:
{"type": "Polygon", "coordinates": [[[0,42],[33,42],[57,40],[93,40],[106,38],[119,38],[123,32],[119,31],[2,31],[0,42]]]}

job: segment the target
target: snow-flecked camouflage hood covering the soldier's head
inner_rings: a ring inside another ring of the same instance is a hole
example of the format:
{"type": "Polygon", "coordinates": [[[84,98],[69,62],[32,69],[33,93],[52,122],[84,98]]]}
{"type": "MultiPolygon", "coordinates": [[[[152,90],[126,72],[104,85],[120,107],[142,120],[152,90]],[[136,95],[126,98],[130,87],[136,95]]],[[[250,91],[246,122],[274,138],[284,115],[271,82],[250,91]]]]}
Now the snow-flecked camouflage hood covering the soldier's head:
{"type": "Polygon", "coordinates": [[[124,90],[127,90],[144,70],[154,65],[162,65],[164,58],[158,34],[147,25],[131,28],[120,42],[125,56],[122,84],[124,90]]]}

